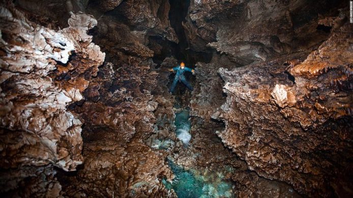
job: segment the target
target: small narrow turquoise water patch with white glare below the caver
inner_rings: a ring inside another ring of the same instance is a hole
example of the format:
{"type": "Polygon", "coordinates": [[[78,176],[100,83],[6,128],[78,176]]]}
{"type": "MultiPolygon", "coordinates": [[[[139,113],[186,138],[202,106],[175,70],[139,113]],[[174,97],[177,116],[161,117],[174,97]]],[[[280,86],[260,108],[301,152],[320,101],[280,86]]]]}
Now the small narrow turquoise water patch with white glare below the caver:
{"type": "Polygon", "coordinates": [[[179,113],[175,113],[174,125],[177,128],[175,133],[178,139],[180,139],[184,146],[187,146],[191,140],[191,122],[189,121],[189,110],[184,109],[179,113]]]}

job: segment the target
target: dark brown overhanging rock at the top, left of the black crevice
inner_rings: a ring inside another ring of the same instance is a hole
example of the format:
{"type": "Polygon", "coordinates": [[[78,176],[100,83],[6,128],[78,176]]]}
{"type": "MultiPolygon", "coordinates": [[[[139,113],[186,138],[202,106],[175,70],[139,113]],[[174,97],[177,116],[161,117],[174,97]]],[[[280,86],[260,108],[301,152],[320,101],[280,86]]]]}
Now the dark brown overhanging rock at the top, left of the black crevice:
{"type": "Polygon", "coordinates": [[[95,30],[97,42],[111,54],[126,53],[131,56],[153,57],[162,54],[162,48],[151,37],[178,43],[171,28],[168,12],[169,2],[124,1],[111,13],[103,15],[95,30]],[[147,46],[152,43],[154,48],[147,46]]]}

